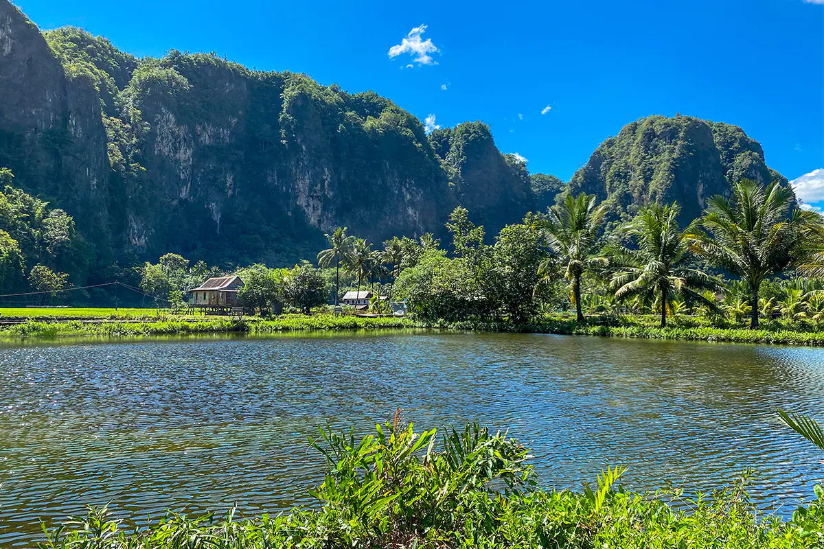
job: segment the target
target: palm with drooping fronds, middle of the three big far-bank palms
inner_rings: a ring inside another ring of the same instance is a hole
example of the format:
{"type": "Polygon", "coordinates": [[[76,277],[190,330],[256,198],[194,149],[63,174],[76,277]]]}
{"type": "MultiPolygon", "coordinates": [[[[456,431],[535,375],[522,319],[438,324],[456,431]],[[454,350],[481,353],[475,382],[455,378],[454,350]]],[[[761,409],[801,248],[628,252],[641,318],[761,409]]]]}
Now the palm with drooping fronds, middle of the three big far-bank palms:
{"type": "MultiPolygon", "coordinates": [[[[619,270],[610,286],[616,298],[646,295],[658,299],[661,306],[661,328],[667,326],[667,309],[675,312],[677,297],[698,301],[714,307],[701,291],[720,291],[721,281],[700,269],[691,267],[686,233],[678,230],[678,203],[671,206],[652,204],[644,207],[633,221],[623,227],[625,235],[633,236],[637,249],[616,246],[611,251],[619,270]]],[[[681,304],[681,309],[683,304],[681,304]]]]}

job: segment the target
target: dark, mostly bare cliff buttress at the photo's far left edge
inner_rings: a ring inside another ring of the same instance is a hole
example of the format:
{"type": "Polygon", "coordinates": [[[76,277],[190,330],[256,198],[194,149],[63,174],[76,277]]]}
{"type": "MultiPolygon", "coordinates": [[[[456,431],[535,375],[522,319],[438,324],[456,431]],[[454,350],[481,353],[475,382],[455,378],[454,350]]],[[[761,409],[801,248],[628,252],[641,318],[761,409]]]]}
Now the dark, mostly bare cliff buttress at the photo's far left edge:
{"type": "Polygon", "coordinates": [[[98,92],[65,72],[40,31],[0,2],[0,166],[107,238],[109,162],[98,92]]]}

